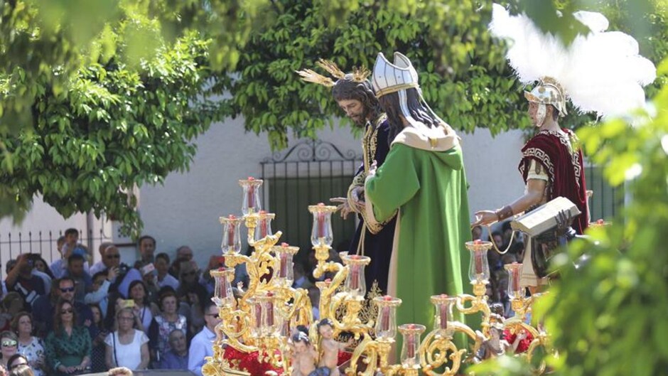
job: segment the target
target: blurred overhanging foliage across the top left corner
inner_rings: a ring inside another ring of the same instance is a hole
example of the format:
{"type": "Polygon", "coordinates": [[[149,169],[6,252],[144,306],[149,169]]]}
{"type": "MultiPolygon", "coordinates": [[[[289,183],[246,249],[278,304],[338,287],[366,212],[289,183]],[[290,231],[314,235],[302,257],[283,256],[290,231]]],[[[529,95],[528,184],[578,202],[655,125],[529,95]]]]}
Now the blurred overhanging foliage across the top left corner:
{"type": "Polygon", "coordinates": [[[239,48],[250,31],[271,23],[273,9],[269,0],[0,1],[0,80],[12,79],[17,70],[26,73],[24,90],[1,98],[0,134],[33,125],[31,109],[39,81],[50,81],[53,95],[58,95],[80,68],[97,63],[101,55],[117,53],[110,28],[128,14],[142,14],[158,26],[124,29],[122,60],[131,68],[164,42],[198,31],[210,40],[206,65],[234,70],[239,48]]]}

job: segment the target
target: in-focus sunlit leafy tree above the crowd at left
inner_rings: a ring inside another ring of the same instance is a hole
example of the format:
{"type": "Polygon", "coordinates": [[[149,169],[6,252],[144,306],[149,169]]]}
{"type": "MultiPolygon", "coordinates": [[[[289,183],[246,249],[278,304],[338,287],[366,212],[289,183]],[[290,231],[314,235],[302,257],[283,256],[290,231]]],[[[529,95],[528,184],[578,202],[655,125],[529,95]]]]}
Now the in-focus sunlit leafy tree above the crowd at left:
{"type": "Polygon", "coordinates": [[[113,49],[70,75],[62,90],[50,75],[31,80],[20,69],[5,82],[6,92],[30,87],[35,97],[32,127],[4,139],[11,158],[2,159],[0,187],[11,199],[2,200],[1,213],[23,213],[39,194],[65,217],[106,213],[139,230],[133,188],[188,168],[195,137],[220,117],[203,97],[218,81],[207,68],[208,41],[191,32],[128,65],[129,29],[159,35],[159,25],[128,10],[113,26],[97,43],[113,49]]]}

